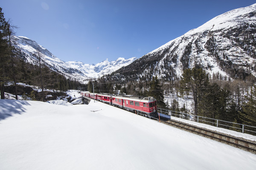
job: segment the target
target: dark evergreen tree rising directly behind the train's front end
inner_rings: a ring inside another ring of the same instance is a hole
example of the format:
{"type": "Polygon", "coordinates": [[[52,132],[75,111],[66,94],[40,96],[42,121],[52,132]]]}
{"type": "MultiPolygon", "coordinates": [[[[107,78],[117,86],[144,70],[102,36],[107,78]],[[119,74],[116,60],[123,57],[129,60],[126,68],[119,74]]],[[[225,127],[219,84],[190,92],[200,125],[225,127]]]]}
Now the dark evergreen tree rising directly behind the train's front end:
{"type": "Polygon", "coordinates": [[[149,96],[152,96],[157,100],[157,106],[159,108],[166,108],[162,86],[157,77],[153,77],[152,82],[150,83],[149,96]]]}

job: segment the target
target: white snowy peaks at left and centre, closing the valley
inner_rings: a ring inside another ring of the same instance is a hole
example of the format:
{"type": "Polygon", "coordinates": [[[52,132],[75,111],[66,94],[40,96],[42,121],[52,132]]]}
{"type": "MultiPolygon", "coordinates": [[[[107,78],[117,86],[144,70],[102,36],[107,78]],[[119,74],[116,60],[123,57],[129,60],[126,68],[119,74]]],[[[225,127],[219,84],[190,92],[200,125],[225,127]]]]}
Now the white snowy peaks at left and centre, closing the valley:
{"type": "Polygon", "coordinates": [[[105,60],[96,65],[89,65],[83,62],[64,62],[46,48],[27,37],[13,36],[12,44],[15,46],[17,54],[26,62],[38,65],[37,51],[39,51],[43,63],[50,69],[79,82],[86,82],[88,79],[102,77],[104,74],[111,74],[113,71],[137,59],[136,57],[130,59],[118,58],[112,62],[105,60]]]}

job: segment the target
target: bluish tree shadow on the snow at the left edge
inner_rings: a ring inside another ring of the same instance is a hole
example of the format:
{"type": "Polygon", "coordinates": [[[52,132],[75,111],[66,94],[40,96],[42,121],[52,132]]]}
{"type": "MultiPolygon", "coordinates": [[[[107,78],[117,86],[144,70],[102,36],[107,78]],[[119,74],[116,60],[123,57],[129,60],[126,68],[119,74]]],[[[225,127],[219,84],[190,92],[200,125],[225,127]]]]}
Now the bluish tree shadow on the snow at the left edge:
{"type": "Polygon", "coordinates": [[[0,121],[12,116],[13,114],[21,114],[26,109],[24,105],[30,105],[24,100],[0,99],[0,121]]]}

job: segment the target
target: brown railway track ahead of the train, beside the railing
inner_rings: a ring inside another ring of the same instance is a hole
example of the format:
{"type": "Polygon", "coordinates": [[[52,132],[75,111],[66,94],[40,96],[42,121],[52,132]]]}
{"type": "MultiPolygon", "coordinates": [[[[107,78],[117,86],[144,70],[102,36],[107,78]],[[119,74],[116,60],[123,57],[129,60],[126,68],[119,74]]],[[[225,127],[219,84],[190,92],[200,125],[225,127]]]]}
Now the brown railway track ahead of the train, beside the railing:
{"type": "Polygon", "coordinates": [[[184,122],[179,122],[176,120],[167,120],[161,118],[160,122],[256,154],[256,142],[249,141],[247,139],[241,139],[223,133],[218,133],[212,130],[207,130],[205,128],[189,125],[184,122]]]}

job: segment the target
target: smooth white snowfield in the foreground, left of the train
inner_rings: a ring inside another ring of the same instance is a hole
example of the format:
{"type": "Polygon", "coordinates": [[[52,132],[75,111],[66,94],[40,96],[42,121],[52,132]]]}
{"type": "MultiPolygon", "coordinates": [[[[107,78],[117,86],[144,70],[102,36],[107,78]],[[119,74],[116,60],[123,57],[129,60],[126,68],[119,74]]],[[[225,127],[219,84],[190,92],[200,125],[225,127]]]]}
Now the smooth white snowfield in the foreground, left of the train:
{"type": "Polygon", "coordinates": [[[101,102],[0,99],[0,167],[255,170],[256,155],[101,102]]]}

